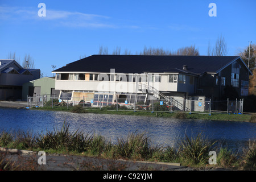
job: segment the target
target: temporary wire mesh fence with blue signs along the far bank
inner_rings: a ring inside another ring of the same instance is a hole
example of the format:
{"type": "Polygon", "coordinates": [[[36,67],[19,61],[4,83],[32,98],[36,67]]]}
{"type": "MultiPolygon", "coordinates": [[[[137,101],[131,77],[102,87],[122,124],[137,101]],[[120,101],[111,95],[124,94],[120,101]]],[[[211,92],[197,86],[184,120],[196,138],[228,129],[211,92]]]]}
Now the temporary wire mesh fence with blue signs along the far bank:
{"type": "Polygon", "coordinates": [[[72,107],[80,105],[90,108],[105,108],[109,110],[134,110],[134,111],[162,111],[187,113],[243,113],[243,100],[212,101],[208,98],[190,97],[183,98],[158,98],[146,94],[109,94],[90,93],[87,96],[71,97],[71,94],[61,94],[60,97],[43,95],[27,98],[27,107],[72,107]]]}

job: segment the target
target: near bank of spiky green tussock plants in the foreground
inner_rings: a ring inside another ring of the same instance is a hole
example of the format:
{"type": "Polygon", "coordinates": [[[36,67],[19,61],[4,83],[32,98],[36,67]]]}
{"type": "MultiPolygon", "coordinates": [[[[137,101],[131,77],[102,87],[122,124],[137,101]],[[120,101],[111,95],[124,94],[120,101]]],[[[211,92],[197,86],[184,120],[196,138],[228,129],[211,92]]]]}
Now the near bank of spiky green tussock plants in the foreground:
{"type": "MultiPolygon", "coordinates": [[[[256,169],[256,145],[251,142],[238,156],[227,148],[219,147],[218,141],[210,142],[201,133],[194,137],[185,136],[177,142],[177,147],[153,146],[146,133],[130,133],[118,138],[116,143],[101,135],[69,131],[69,124],[48,131],[46,134],[32,134],[24,131],[0,132],[0,146],[20,150],[45,151],[50,154],[72,154],[93,156],[103,159],[145,160],[157,162],[181,163],[182,166],[204,168],[208,166],[209,151],[217,152],[217,164],[214,166],[232,169],[256,169]]],[[[0,170],[14,169],[14,164],[5,163],[0,155],[0,170]]]]}

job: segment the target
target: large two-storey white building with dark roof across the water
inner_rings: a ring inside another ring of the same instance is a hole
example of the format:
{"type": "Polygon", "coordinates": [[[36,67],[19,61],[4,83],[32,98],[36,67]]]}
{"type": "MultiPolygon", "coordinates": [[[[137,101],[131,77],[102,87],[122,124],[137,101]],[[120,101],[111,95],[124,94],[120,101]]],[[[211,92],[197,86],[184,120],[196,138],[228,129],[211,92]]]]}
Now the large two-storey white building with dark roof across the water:
{"type": "Polygon", "coordinates": [[[151,55],[92,55],[53,73],[61,98],[83,96],[130,103],[135,97],[144,101],[152,96],[220,100],[226,85],[232,85],[243,96],[252,75],[239,56],[151,55]]]}

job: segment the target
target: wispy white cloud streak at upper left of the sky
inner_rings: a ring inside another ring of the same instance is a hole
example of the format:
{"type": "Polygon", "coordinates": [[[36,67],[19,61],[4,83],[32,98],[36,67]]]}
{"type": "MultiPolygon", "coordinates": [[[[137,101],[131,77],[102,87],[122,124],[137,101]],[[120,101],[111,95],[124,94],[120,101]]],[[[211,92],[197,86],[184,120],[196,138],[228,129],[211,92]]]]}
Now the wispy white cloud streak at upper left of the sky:
{"type": "Polygon", "coordinates": [[[31,22],[31,20],[37,22],[43,20],[54,23],[55,26],[68,27],[115,27],[107,21],[110,19],[108,16],[46,9],[46,16],[39,17],[38,11],[39,8],[0,6],[0,20],[7,20],[9,22],[15,20],[19,22],[31,22]]]}

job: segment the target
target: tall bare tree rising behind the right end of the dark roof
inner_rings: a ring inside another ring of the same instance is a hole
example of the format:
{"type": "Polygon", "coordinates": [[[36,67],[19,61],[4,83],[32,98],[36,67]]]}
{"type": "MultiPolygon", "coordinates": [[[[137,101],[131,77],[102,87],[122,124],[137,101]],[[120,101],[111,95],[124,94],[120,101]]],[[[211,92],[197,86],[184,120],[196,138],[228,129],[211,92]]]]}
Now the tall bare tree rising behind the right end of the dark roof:
{"type": "Polygon", "coordinates": [[[222,35],[218,36],[214,47],[210,46],[210,42],[209,42],[207,55],[208,56],[226,56],[226,55],[228,55],[228,49],[226,47],[226,42],[225,42],[224,37],[222,37],[222,35]]]}

